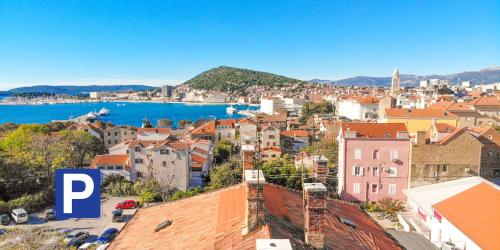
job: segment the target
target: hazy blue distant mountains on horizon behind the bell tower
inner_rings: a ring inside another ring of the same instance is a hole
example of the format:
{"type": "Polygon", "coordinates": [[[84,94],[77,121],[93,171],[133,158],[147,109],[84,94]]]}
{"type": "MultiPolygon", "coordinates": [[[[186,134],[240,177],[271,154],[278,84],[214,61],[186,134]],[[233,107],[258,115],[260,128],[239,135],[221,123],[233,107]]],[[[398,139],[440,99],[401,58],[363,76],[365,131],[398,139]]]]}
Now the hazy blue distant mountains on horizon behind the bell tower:
{"type": "MultiPolygon", "coordinates": [[[[479,71],[465,71],[462,73],[450,75],[427,75],[418,76],[411,74],[401,74],[402,86],[416,86],[420,80],[429,79],[442,79],[449,80],[452,84],[457,84],[459,81],[471,81],[473,85],[488,84],[500,82],[500,67],[491,67],[479,71]]],[[[391,77],[373,77],[373,76],[356,76],[341,80],[325,80],[325,79],[312,79],[309,83],[319,84],[332,84],[336,86],[381,86],[388,87],[391,85],[391,77]]]]}

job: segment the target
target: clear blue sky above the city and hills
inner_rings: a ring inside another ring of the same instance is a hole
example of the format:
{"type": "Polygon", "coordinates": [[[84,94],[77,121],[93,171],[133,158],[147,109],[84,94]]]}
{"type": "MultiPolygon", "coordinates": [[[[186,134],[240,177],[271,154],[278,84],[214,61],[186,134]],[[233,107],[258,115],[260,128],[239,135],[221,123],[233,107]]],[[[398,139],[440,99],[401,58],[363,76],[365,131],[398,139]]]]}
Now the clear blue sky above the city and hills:
{"type": "Polygon", "coordinates": [[[212,67],[300,79],[499,66],[499,1],[0,0],[0,90],[180,83],[212,67]]]}

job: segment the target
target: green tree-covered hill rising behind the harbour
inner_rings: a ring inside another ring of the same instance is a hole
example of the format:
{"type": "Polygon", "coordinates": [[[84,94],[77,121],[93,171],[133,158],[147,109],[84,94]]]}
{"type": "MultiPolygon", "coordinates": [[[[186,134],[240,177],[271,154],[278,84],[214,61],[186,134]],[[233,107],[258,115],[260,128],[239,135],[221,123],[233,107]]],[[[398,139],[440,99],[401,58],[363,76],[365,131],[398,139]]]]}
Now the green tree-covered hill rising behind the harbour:
{"type": "Polygon", "coordinates": [[[207,70],[184,84],[194,89],[242,91],[250,86],[281,87],[304,81],[248,69],[220,66],[207,70]]]}

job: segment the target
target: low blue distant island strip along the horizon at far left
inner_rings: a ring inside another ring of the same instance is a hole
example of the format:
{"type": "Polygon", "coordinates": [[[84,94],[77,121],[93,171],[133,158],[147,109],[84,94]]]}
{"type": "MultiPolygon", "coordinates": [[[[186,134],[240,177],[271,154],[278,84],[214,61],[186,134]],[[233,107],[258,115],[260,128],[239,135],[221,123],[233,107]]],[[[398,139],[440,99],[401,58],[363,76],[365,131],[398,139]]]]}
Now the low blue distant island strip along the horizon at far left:
{"type": "Polygon", "coordinates": [[[90,92],[147,91],[152,89],[155,89],[155,87],[146,85],[88,85],[88,86],[36,85],[31,87],[15,88],[8,91],[0,91],[0,95],[16,95],[16,94],[26,94],[26,93],[85,95],[90,92]]]}

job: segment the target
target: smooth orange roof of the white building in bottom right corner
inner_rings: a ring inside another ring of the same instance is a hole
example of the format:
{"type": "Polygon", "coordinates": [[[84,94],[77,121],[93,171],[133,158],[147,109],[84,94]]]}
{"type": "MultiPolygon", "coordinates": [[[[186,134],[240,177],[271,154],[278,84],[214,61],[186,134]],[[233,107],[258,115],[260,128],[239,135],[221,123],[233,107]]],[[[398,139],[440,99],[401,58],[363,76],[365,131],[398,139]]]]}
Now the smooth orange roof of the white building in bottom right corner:
{"type": "Polygon", "coordinates": [[[480,183],[432,207],[483,249],[500,249],[500,190],[480,183]]]}

